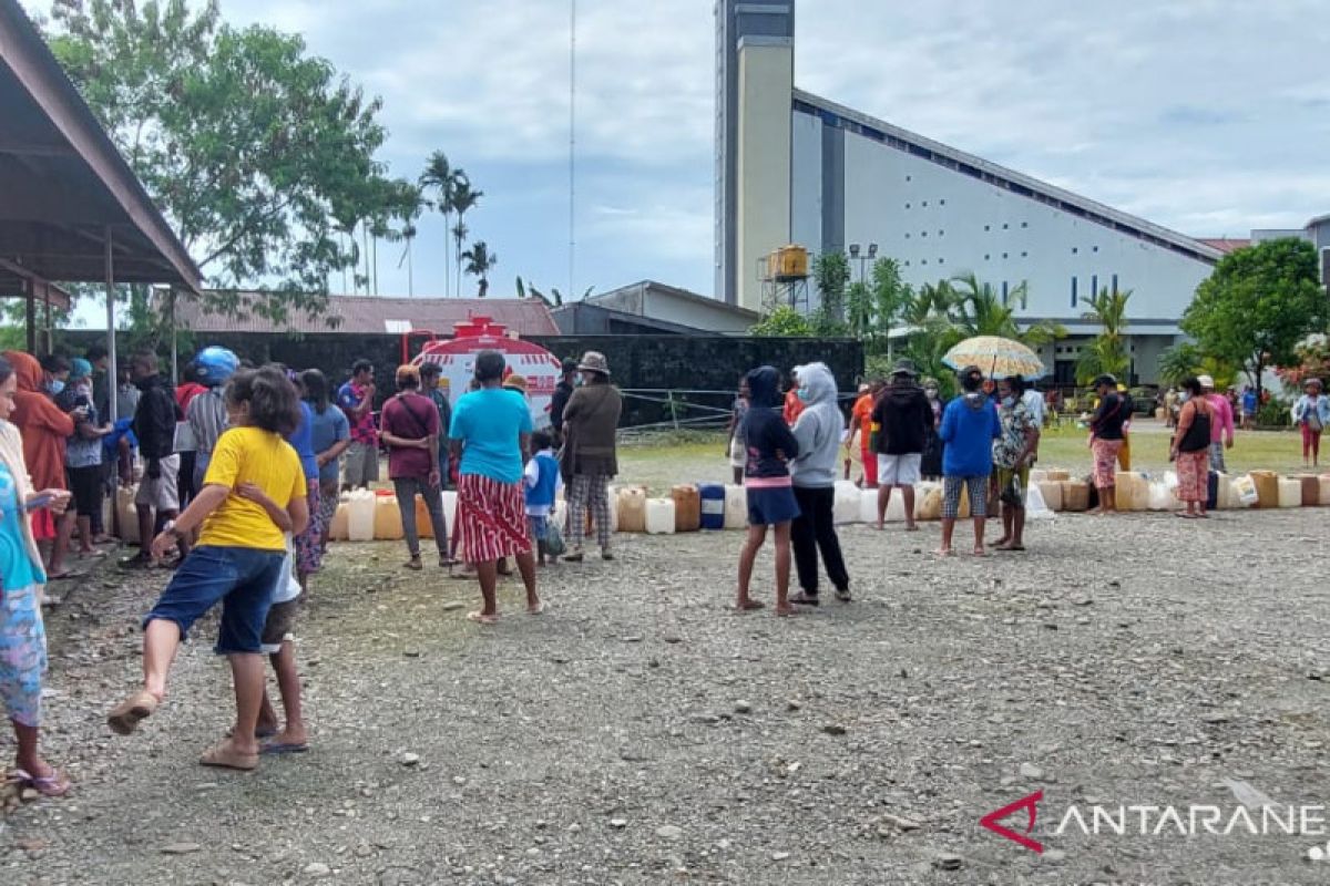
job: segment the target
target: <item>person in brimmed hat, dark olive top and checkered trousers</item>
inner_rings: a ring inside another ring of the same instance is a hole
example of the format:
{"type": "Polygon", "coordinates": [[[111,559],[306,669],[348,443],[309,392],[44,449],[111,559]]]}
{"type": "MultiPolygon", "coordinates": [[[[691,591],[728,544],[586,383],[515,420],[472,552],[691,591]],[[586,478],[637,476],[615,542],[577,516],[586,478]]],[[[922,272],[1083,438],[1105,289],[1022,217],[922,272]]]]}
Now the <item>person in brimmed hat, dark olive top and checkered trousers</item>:
{"type": "Polygon", "coordinates": [[[583,384],[564,409],[564,450],[560,457],[568,484],[568,555],[581,562],[587,510],[596,523],[596,541],[602,559],[614,559],[609,550],[609,481],[618,473],[614,436],[624,399],[609,384],[605,355],[588,351],[577,364],[583,384]]]}

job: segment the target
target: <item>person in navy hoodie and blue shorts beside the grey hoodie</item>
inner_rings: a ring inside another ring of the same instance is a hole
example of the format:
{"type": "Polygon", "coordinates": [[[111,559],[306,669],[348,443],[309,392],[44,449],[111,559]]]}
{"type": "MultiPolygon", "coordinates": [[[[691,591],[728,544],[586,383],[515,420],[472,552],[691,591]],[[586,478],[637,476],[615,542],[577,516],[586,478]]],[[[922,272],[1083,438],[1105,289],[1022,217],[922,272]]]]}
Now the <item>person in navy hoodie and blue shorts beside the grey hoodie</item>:
{"type": "Polygon", "coordinates": [[[759,367],[747,375],[751,405],[743,424],[745,486],[749,505],[749,534],[739,554],[739,592],[734,608],[739,612],[762,608],[749,595],[753,563],[766,542],[767,526],[775,527],[775,614],[793,615],[790,606],[790,521],[799,515],[790,480],[789,462],[799,456],[790,426],[781,412],[781,373],[759,367]]]}

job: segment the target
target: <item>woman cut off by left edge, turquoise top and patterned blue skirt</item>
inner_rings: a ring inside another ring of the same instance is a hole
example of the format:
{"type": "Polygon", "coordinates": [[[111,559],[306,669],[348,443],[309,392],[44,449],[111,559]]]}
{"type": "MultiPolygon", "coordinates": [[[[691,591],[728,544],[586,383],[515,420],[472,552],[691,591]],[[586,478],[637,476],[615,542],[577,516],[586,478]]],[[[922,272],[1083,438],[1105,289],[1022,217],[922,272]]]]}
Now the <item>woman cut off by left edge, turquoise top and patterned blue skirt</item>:
{"type": "Polygon", "coordinates": [[[43,760],[37,747],[41,675],[47,669],[47,634],[41,622],[41,586],[47,575],[28,513],[47,505],[64,511],[69,493],[33,490],[23,440],[11,424],[16,389],[13,367],[0,359],[0,701],[19,744],[11,777],[48,797],[60,797],[69,790],[69,781],[43,760]]]}

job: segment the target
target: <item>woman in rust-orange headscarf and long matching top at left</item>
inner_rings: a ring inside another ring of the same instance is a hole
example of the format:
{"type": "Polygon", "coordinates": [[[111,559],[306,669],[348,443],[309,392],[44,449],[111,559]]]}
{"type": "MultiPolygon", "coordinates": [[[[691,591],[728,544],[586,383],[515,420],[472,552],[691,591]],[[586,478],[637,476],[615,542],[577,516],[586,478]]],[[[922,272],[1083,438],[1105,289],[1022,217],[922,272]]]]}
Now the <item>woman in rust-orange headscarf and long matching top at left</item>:
{"type": "MultiPolygon", "coordinates": [[[[13,395],[13,413],[9,421],[23,436],[23,457],[28,465],[32,485],[37,489],[68,490],[65,481],[65,445],[74,433],[74,421],[85,417],[86,410],[74,409],[65,413],[56,405],[53,397],[61,392],[48,377],[37,359],[23,351],[5,351],[5,360],[13,367],[17,389],[13,395]]],[[[48,511],[33,515],[32,529],[39,541],[51,541],[51,557],[47,562],[47,578],[56,580],[68,578],[65,551],[73,534],[73,521],[60,518],[59,533],[56,521],[48,511]]]]}

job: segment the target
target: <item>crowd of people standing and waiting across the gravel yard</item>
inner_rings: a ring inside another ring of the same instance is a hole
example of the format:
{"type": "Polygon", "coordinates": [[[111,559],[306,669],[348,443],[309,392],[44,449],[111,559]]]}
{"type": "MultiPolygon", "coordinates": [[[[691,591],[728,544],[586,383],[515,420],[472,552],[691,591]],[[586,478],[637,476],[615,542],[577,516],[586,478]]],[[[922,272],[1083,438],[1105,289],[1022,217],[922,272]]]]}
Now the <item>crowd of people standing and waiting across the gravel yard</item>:
{"type": "MultiPolygon", "coordinates": [[[[180,644],[221,604],[214,651],[230,663],[235,719],[202,754],[211,766],[249,770],[263,754],[309,748],[291,643],[299,599],[321,569],[340,497],[378,484],[380,452],[400,509],[404,567],[424,570],[419,498],[439,566],[462,566],[479,584],[481,606],[468,618],[480,624],[500,616],[497,580],[509,561],[527,612],[540,615],[539,567],[581,562],[592,531],[601,558],[614,559],[609,482],[618,473],[622,397],[601,353],[564,363],[548,429],[536,429],[525,379],[495,351],[475,357],[469,389],[455,400],[430,361],[399,367],[392,393],[380,397],[366,360],[334,389],[319,369],[247,367],[215,347],[198,353],[178,385],[149,352],[133,355],[112,384],[105,356],[93,349],[72,360],[21,352],[0,359],[0,696],[17,736],[13,777],[44,794],[60,796],[69,782],[39,747],[41,587],[74,574],[72,554],[104,555],[110,527],[102,501],[117,485],[137,480],[141,539],[121,566],[172,574],[142,622],[142,685],[109,712],[108,724],[129,735],[157,711],[180,644]],[[114,422],[106,420],[110,397],[114,422]],[[458,509],[450,533],[443,493],[451,487],[458,509]],[[560,529],[552,518],[561,489],[568,506],[560,529]],[[266,693],[265,656],[281,716],[266,693]]],[[[876,529],[899,493],[904,529],[915,531],[915,487],[940,480],[940,555],[954,553],[966,502],[975,555],[1025,550],[1025,495],[1045,399],[1020,376],[988,379],[979,367],[960,369],[956,383],[959,395],[944,402],[936,380],[920,380],[900,360],[890,379],[859,389],[847,425],[835,379],[821,363],[795,367],[787,379],[773,367],[745,376],[726,442],[749,518],[737,611],[765,606],[750,588],[769,534],[777,615],[819,606],[822,574],[838,600],[854,599],[834,514],[837,481],[854,464],[861,485],[876,490],[876,529]],[[1001,535],[986,546],[991,507],[999,509],[1001,535]]],[[[1107,514],[1117,507],[1117,470],[1130,466],[1134,404],[1112,376],[1093,388],[1092,478],[1096,511],[1107,514]]],[[[1224,469],[1237,416],[1248,421],[1249,408],[1242,399],[1234,409],[1206,376],[1188,379],[1176,400],[1170,457],[1180,515],[1204,518],[1208,474],[1224,469]]],[[[1319,381],[1307,383],[1293,416],[1305,457],[1315,460],[1330,421],[1319,381]]]]}

